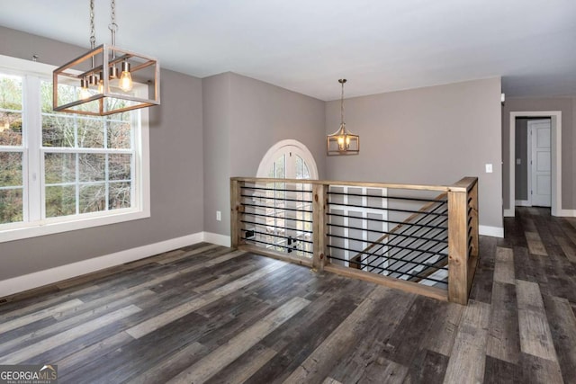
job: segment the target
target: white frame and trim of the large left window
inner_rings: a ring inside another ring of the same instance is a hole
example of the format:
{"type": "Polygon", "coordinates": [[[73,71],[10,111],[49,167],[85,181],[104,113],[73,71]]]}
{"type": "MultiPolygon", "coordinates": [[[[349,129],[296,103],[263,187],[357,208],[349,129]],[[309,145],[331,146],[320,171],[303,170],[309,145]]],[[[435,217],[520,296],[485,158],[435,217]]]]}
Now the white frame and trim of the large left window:
{"type": "MultiPolygon", "coordinates": [[[[30,76],[26,79],[24,87],[30,86],[32,81],[40,81],[40,77],[51,78],[56,67],[38,62],[12,58],[0,55],[0,70],[5,73],[30,76]]],[[[34,97],[23,88],[23,97],[34,97]]],[[[39,104],[40,105],[40,104],[39,104]]],[[[85,213],[81,215],[62,216],[58,218],[40,219],[40,210],[44,204],[43,177],[40,168],[43,160],[40,158],[43,150],[40,148],[39,137],[24,134],[23,132],[23,210],[24,219],[29,221],[7,223],[0,225],[0,243],[23,238],[39,237],[78,229],[106,226],[125,221],[146,219],[150,217],[150,179],[149,179],[149,120],[148,109],[139,110],[140,129],[133,130],[134,136],[134,198],[130,208],[121,210],[105,210],[85,213]],[[31,140],[39,151],[31,151],[31,140]]],[[[40,111],[23,111],[24,129],[28,124],[40,125],[40,111]]]]}

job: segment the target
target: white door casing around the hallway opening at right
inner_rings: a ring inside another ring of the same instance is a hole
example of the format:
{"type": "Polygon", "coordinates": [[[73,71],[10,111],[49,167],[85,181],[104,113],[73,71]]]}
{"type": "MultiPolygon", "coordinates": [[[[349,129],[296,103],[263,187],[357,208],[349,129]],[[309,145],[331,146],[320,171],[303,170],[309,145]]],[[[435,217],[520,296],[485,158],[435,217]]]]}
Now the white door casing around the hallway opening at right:
{"type": "Polygon", "coordinates": [[[515,216],[516,206],[516,118],[549,117],[552,157],[552,216],[565,216],[562,210],[562,111],[510,112],[509,120],[509,209],[505,217],[515,216]]]}

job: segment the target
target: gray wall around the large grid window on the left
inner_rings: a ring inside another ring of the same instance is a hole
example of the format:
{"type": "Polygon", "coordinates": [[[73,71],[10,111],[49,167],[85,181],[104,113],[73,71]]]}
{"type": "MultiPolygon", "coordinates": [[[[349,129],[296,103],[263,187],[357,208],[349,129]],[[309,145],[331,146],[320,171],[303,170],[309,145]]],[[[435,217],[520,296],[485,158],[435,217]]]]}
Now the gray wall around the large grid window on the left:
{"type": "MultiPolygon", "coordinates": [[[[85,50],[0,27],[2,55],[59,65],[85,50]]],[[[1,243],[0,280],[202,231],[202,82],[166,70],[161,81],[162,105],[149,110],[151,217],[1,243]]]]}

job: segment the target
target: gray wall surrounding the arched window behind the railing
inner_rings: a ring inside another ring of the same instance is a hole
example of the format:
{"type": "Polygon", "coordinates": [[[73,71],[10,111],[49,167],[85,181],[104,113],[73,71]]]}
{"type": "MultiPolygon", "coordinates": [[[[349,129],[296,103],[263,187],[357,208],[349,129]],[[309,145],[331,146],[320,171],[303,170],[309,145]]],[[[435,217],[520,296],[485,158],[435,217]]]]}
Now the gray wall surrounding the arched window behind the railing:
{"type": "Polygon", "coordinates": [[[324,177],[324,102],[233,73],[204,78],[202,89],[205,231],[229,235],[229,177],[256,176],[266,151],[280,140],[308,147],[324,177]]]}

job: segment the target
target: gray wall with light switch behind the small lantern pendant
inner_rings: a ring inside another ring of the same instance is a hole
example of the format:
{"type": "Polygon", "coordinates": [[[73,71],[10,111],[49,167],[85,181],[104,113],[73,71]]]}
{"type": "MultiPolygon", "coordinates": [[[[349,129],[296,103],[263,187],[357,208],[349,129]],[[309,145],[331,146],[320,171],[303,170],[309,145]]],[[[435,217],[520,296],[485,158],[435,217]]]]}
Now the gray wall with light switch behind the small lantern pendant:
{"type": "MultiPolygon", "coordinates": [[[[360,154],[329,156],[330,179],[451,184],[478,176],[480,224],[502,228],[500,78],[356,97],[345,109],[360,154]]],[[[339,119],[339,101],[327,103],[327,134],[339,119]]]]}

